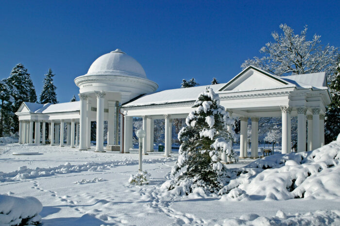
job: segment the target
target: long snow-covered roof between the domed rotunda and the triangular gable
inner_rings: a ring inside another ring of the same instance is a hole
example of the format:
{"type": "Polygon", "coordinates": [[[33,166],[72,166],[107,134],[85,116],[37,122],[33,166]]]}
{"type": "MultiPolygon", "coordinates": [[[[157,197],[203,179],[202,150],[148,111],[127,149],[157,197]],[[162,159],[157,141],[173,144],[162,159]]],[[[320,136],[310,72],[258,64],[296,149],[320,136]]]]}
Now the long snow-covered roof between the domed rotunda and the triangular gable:
{"type": "Polygon", "coordinates": [[[204,92],[205,87],[210,86],[210,88],[214,90],[219,90],[223,85],[225,85],[225,83],[164,90],[144,95],[134,101],[123,104],[123,107],[193,101],[204,92]]]}

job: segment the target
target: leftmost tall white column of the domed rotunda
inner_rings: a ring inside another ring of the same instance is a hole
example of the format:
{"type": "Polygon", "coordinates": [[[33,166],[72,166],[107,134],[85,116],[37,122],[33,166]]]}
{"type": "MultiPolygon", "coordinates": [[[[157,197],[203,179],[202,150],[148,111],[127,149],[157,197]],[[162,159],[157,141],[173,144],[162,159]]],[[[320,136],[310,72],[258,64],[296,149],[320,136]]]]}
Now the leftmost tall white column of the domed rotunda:
{"type": "Polygon", "coordinates": [[[79,150],[87,150],[86,145],[86,127],[87,127],[87,112],[86,112],[86,100],[87,96],[85,94],[78,94],[80,98],[80,119],[79,119],[79,150]]]}

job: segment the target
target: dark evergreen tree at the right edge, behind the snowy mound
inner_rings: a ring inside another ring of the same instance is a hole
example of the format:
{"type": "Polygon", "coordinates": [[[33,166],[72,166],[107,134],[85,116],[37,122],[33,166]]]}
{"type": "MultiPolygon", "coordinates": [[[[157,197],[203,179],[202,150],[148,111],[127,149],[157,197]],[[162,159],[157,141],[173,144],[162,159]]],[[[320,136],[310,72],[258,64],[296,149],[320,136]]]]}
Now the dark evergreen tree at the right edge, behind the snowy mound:
{"type": "Polygon", "coordinates": [[[340,133],[340,57],[336,66],[334,80],[328,86],[332,103],[328,106],[325,120],[325,144],[337,139],[340,133]]]}

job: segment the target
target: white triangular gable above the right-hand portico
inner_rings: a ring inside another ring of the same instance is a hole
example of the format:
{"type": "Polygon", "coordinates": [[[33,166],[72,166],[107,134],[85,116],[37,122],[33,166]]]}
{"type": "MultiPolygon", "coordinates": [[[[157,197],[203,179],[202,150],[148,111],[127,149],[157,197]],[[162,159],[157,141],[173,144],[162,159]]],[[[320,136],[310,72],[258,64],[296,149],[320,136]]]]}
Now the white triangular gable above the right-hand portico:
{"type": "Polygon", "coordinates": [[[248,66],[224,85],[219,91],[261,90],[290,84],[278,76],[265,72],[257,67],[248,66]]]}

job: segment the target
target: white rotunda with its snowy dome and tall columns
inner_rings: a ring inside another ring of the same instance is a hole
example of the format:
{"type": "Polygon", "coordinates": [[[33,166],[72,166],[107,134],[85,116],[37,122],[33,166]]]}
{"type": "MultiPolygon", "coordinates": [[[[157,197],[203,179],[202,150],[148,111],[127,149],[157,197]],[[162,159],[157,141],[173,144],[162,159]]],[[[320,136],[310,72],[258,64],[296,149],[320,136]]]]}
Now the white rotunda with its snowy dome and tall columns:
{"type": "Polygon", "coordinates": [[[119,103],[158,88],[157,83],[147,79],[143,67],[120,49],[100,56],[87,74],[74,82],[80,93],[80,150],[90,147],[91,121],[97,122],[96,151],[104,151],[104,121],[108,122],[107,148],[118,148],[119,103]]]}

